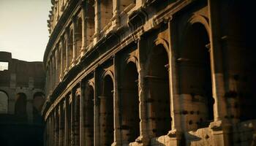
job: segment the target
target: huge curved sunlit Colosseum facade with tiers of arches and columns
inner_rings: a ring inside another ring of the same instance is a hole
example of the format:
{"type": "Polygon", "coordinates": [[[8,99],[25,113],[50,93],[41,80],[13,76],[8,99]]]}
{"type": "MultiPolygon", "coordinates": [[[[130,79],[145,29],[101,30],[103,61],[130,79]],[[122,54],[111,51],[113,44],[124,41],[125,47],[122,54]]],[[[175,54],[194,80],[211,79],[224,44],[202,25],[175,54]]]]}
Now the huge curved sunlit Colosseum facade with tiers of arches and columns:
{"type": "Polygon", "coordinates": [[[256,145],[241,0],[51,0],[45,145],[256,145]]]}

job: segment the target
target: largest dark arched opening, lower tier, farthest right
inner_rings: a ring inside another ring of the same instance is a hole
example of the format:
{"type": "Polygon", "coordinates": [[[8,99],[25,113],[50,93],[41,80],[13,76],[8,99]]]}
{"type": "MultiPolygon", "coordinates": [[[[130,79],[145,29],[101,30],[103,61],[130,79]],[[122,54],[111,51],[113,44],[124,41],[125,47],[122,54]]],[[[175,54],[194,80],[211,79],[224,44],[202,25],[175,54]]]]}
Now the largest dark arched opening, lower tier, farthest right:
{"type": "Polygon", "coordinates": [[[208,33],[201,23],[189,26],[179,62],[180,92],[187,130],[207,127],[214,120],[208,33]]]}

